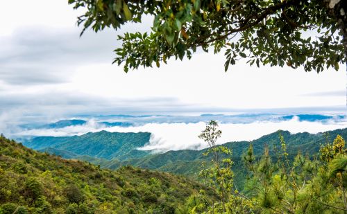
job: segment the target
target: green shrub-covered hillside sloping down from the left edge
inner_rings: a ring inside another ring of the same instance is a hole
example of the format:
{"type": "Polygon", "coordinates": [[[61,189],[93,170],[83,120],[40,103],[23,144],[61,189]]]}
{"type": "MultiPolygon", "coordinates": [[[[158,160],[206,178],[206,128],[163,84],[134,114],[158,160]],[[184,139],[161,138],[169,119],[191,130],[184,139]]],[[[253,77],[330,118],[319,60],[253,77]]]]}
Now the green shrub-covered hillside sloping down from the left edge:
{"type": "Polygon", "coordinates": [[[185,177],[130,166],[103,170],[0,136],[1,214],[175,213],[199,190],[212,194],[185,177]]]}

